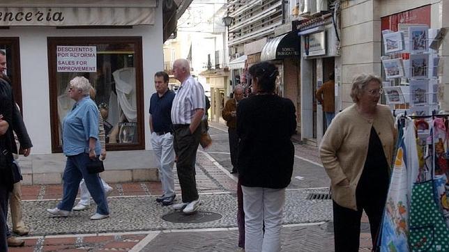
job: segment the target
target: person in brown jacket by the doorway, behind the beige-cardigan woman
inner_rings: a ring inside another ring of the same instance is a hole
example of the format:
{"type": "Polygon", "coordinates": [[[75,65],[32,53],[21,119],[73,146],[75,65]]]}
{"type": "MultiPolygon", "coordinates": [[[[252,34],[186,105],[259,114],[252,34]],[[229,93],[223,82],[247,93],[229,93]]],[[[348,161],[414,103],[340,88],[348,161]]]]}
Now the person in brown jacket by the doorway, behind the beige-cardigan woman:
{"type": "Polygon", "coordinates": [[[326,118],[326,129],[335,116],[335,81],[334,73],[329,74],[328,81],[324,82],[323,86],[317,90],[315,97],[323,104],[323,112],[326,118]]]}

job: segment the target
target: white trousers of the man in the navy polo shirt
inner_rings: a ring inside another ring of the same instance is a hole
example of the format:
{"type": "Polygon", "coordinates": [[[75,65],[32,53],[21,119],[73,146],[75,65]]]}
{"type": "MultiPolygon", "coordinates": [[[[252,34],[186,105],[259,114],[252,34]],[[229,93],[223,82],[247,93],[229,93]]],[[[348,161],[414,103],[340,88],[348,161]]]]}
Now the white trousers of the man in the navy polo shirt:
{"type": "Polygon", "coordinates": [[[174,196],[174,148],[173,134],[167,133],[158,136],[151,134],[151,145],[153,145],[154,155],[158,163],[160,182],[165,197],[174,196]]]}

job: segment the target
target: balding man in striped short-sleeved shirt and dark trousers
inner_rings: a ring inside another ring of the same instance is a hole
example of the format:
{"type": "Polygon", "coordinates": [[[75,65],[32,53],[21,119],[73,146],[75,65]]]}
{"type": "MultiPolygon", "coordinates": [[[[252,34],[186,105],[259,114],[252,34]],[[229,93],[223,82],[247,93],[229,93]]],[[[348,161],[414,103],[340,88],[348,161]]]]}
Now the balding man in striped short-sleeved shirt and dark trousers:
{"type": "Polygon", "coordinates": [[[195,160],[201,136],[201,118],[204,115],[204,89],[190,75],[190,65],[180,58],[173,64],[174,77],[181,82],[172,104],[172,123],[174,129],[174,151],[176,170],[183,202],[175,204],[174,210],[184,214],[196,212],[201,205],[195,180],[195,160]]]}

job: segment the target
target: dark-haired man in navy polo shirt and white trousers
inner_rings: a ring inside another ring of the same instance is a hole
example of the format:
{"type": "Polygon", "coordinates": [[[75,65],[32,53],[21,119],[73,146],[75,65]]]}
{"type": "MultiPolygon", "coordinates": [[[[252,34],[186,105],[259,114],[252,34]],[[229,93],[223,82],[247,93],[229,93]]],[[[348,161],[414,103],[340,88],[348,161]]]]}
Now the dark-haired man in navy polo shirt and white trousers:
{"type": "Polygon", "coordinates": [[[156,198],[162,205],[172,205],[176,194],[174,193],[174,148],[172,132],[172,103],[174,92],[168,89],[169,76],[166,72],[154,74],[156,93],[150,99],[150,130],[151,145],[158,162],[159,177],[162,182],[164,194],[156,198]]]}

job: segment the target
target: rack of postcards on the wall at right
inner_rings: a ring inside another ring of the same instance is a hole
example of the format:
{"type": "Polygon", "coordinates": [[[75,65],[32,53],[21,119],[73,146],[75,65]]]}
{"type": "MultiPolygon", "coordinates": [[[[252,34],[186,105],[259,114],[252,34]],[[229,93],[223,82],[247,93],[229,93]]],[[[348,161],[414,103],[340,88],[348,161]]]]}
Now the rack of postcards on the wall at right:
{"type": "Polygon", "coordinates": [[[383,31],[386,103],[397,112],[429,115],[439,110],[442,64],[438,49],[446,30],[429,29],[425,24],[398,24],[398,30],[383,31]]]}

